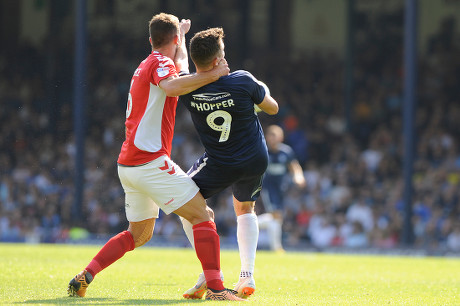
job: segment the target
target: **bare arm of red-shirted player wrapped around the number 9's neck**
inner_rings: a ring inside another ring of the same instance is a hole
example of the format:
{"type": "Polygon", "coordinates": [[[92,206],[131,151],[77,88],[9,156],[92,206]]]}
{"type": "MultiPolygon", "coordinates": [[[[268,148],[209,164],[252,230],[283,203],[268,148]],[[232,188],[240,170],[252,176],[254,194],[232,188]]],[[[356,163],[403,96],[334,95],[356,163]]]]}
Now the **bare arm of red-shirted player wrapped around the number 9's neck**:
{"type": "Polygon", "coordinates": [[[158,84],[168,97],[188,94],[206,84],[217,81],[221,76],[228,75],[230,69],[227,61],[220,61],[212,70],[181,77],[169,77],[158,84]]]}

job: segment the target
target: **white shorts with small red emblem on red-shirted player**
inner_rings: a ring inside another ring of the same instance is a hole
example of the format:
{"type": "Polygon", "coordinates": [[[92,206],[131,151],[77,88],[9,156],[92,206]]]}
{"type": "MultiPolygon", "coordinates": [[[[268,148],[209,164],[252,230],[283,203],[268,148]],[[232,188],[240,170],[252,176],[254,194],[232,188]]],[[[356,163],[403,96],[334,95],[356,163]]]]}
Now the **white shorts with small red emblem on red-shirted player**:
{"type": "Polygon", "coordinates": [[[159,208],[168,215],[199,191],[195,182],[167,156],[141,166],[118,165],[118,177],[125,190],[126,218],[130,222],[158,218],[159,208]]]}

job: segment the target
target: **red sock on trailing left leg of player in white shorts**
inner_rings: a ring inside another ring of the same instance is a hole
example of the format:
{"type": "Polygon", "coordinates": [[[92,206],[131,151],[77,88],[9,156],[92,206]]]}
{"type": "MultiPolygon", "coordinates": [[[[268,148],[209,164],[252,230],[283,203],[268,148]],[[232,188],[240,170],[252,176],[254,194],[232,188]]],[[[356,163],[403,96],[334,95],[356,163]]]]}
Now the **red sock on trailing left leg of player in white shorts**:
{"type": "Polygon", "coordinates": [[[107,241],[88,264],[86,271],[95,277],[97,273],[120,259],[126,252],[132,250],[134,250],[133,235],[128,231],[121,232],[107,241]]]}

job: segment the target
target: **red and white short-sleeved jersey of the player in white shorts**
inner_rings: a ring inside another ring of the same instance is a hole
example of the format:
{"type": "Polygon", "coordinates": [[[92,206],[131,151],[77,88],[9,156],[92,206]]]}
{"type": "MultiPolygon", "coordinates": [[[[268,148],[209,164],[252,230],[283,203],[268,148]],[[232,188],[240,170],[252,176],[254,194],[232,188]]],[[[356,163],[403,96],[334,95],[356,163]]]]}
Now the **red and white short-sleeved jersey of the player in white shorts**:
{"type": "Polygon", "coordinates": [[[171,155],[178,97],[167,97],[158,84],[177,75],[174,62],[152,52],[134,72],[126,108],[126,139],[118,163],[136,166],[171,155]]]}

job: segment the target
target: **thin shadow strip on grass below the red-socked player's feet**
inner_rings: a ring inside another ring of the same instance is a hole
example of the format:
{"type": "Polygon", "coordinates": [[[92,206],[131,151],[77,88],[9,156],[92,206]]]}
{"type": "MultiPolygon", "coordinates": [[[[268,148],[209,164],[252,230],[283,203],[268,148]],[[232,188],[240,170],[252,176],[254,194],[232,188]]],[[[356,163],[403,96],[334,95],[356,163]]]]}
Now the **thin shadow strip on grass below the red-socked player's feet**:
{"type": "Polygon", "coordinates": [[[14,304],[54,304],[54,305],[170,305],[170,304],[192,304],[202,303],[204,300],[161,300],[161,299],[113,299],[113,298],[71,298],[62,297],[54,299],[26,300],[14,304]]]}

